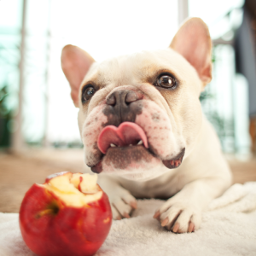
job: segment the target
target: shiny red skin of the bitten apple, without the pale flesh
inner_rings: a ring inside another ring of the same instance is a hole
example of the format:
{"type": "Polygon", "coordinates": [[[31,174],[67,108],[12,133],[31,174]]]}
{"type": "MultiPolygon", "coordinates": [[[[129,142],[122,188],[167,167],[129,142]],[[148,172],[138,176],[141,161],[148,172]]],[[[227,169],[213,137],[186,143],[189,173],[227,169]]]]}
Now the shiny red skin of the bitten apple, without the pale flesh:
{"type": "Polygon", "coordinates": [[[20,207],[21,235],[39,256],[93,255],[111,224],[111,207],[104,192],[84,207],[67,207],[54,193],[33,184],[20,207]]]}

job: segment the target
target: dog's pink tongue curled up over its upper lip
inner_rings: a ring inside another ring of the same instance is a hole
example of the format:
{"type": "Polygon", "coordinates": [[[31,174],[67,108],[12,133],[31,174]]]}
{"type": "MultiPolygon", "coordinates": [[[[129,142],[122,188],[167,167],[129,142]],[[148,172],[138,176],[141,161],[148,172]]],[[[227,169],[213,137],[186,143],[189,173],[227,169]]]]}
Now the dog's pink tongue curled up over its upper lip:
{"type": "Polygon", "coordinates": [[[106,154],[110,144],[113,143],[119,147],[137,145],[142,140],[144,147],[148,148],[148,140],[143,129],[135,123],[125,122],[119,127],[108,125],[98,137],[98,148],[103,154],[106,154]]]}

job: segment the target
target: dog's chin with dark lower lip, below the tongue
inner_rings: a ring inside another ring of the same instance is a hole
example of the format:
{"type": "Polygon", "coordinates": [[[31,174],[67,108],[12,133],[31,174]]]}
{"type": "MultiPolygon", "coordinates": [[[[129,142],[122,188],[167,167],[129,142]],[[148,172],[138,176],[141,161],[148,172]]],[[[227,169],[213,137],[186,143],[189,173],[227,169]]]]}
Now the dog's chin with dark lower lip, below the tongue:
{"type": "Polygon", "coordinates": [[[183,154],[184,149],[172,160],[160,160],[143,145],[108,148],[91,171],[113,173],[131,180],[147,180],[180,166],[183,154]]]}

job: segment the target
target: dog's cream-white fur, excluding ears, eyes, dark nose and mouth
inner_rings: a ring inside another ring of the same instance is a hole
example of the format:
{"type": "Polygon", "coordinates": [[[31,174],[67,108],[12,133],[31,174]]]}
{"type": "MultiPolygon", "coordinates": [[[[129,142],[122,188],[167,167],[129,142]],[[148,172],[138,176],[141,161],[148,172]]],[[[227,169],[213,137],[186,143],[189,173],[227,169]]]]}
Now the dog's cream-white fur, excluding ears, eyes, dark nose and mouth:
{"type": "Polygon", "coordinates": [[[199,96],[204,82],[195,67],[173,49],[143,51],[93,63],[81,84],[93,79],[106,85],[96,91],[86,108],[79,101],[79,129],[85,163],[93,166],[99,160],[93,143],[102,131],[101,124],[106,123],[102,109],[107,96],[127,86],[144,96],[143,113],[137,115],[135,123],[143,128],[147,137],[150,136],[148,142],[154,144],[159,156],[148,163],[133,163],[125,170],[103,162],[98,182],[108,194],[113,218],[128,218],[136,205],[136,197],[169,198],[156,209],[155,218],[167,230],[187,232],[189,224],[194,224],[193,230],[197,230],[202,210],[230,186],[231,175],[218,137],[201,111],[199,96]],[[161,90],[145,82],[145,78],[162,69],[169,70],[179,80],[178,90],[166,90],[162,95],[161,90]],[[148,116],[154,112],[160,115],[160,124],[152,129],[149,128],[152,119],[148,116]],[[165,132],[160,131],[163,126],[165,132]],[[181,166],[166,168],[161,160],[177,154],[181,148],[186,148],[181,166]]]}

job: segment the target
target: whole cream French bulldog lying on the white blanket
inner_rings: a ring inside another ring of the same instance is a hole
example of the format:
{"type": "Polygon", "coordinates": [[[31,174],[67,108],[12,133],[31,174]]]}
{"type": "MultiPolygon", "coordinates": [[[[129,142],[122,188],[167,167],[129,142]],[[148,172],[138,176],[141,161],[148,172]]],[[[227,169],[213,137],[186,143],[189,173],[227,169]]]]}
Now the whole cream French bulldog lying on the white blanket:
{"type": "Polygon", "coordinates": [[[113,219],[130,218],[136,198],[160,198],[153,217],[161,226],[193,232],[229,188],[230,168],[199,100],[212,79],[211,52],[199,18],[186,20],[167,49],[102,63],[79,47],[62,49],[84,161],[100,173],[113,219]]]}

